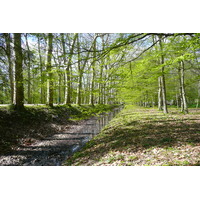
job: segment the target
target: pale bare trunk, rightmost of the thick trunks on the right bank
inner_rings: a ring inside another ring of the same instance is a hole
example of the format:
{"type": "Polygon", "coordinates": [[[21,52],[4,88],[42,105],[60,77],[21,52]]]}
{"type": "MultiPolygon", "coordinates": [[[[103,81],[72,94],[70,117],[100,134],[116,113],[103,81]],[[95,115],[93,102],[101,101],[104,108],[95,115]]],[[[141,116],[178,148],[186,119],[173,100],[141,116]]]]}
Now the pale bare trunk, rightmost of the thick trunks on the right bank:
{"type": "Polygon", "coordinates": [[[185,93],[185,81],[184,81],[184,62],[181,61],[181,70],[180,70],[180,75],[181,75],[181,94],[182,94],[182,101],[183,101],[183,112],[188,113],[188,106],[187,106],[187,100],[186,100],[186,93],[185,93]]]}

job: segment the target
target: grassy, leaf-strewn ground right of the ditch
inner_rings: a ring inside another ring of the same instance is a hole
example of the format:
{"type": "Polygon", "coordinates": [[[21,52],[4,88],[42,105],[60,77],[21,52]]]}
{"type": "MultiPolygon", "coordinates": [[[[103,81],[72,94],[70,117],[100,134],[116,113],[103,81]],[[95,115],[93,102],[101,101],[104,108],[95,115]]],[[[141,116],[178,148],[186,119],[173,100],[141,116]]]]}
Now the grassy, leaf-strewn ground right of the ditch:
{"type": "Polygon", "coordinates": [[[126,106],[64,165],[200,166],[200,109],[126,106]]]}

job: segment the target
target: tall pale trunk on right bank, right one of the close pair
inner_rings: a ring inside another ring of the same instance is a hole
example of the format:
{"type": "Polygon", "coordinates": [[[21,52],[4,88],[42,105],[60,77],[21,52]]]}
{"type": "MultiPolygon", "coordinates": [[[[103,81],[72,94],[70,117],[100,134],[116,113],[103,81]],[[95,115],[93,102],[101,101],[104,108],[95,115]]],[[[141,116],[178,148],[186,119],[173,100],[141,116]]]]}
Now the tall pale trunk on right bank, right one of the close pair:
{"type": "MultiPolygon", "coordinates": [[[[164,64],[164,55],[163,55],[163,46],[162,46],[162,38],[160,37],[159,40],[159,44],[160,44],[160,51],[161,51],[161,64],[164,64]]],[[[162,97],[163,97],[163,112],[164,113],[168,113],[167,110],[167,100],[166,100],[166,85],[165,85],[165,67],[162,67],[162,75],[161,75],[161,85],[162,85],[162,97]]]]}

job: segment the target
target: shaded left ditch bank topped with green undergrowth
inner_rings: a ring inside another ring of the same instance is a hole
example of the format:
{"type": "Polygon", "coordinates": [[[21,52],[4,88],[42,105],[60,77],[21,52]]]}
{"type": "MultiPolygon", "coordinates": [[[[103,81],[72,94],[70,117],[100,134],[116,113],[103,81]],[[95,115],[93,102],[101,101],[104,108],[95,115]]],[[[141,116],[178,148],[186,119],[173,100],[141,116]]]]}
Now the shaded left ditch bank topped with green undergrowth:
{"type": "Polygon", "coordinates": [[[15,111],[12,106],[0,107],[0,154],[10,151],[22,138],[43,139],[93,115],[109,112],[118,105],[29,105],[15,111]]]}

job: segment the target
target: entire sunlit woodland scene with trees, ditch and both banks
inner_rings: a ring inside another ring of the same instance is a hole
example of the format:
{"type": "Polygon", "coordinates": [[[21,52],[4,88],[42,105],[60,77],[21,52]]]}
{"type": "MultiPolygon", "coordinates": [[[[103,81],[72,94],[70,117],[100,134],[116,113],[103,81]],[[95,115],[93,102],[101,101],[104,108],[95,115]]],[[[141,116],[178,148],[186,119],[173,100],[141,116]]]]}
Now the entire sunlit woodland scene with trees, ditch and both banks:
{"type": "Polygon", "coordinates": [[[1,33],[0,165],[200,165],[199,59],[198,33],[1,33]]]}

